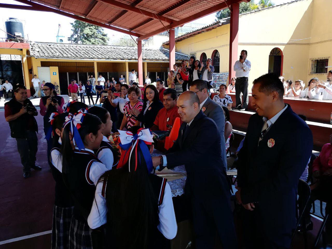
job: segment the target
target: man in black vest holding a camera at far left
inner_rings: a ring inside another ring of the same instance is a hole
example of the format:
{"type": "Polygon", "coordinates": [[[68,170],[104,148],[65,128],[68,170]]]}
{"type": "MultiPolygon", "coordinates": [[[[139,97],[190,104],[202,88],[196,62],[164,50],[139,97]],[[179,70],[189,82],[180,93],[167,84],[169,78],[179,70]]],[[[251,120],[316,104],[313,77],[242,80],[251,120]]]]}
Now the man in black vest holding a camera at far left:
{"type": "Polygon", "coordinates": [[[41,170],[37,166],[38,125],[34,116],[38,112],[28,99],[27,88],[24,85],[15,86],[14,97],[5,104],[5,118],[9,123],[10,135],[16,139],[17,149],[23,165],[23,177],[30,176],[30,169],[41,170]]]}

